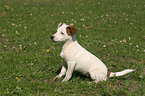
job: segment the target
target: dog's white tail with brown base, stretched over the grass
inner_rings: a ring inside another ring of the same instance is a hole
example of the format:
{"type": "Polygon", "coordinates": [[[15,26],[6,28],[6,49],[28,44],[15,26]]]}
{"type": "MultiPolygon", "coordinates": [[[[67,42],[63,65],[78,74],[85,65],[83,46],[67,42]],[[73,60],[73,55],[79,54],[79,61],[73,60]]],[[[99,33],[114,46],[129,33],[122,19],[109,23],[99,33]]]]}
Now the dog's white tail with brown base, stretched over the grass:
{"type": "Polygon", "coordinates": [[[107,77],[114,77],[114,76],[122,76],[122,75],[125,75],[127,73],[130,73],[130,72],[133,72],[135,70],[133,69],[126,69],[126,70],[123,70],[123,71],[120,71],[120,72],[107,72],[107,77]]]}

